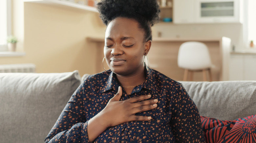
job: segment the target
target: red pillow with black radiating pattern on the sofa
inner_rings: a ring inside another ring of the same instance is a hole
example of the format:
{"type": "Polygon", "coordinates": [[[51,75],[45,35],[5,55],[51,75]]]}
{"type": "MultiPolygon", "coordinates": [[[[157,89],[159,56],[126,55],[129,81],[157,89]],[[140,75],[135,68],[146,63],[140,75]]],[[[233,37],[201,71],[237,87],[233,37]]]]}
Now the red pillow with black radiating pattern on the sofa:
{"type": "Polygon", "coordinates": [[[207,143],[255,143],[256,115],[233,121],[201,116],[207,143]]]}

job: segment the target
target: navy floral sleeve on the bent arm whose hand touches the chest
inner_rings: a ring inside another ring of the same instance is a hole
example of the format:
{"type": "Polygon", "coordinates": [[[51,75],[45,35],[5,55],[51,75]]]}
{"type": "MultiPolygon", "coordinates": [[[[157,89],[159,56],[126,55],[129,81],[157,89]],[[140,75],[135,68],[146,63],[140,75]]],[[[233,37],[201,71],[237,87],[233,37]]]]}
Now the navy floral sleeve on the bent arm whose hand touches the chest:
{"type": "Polygon", "coordinates": [[[89,142],[82,93],[83,84],[71,96],[45,143],[89,142]]]}

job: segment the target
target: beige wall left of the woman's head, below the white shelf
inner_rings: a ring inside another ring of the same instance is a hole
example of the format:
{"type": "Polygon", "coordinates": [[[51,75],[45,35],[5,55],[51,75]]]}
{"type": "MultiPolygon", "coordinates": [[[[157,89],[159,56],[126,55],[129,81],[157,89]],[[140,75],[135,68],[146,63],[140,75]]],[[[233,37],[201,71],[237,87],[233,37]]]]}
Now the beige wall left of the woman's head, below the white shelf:
{"type": "Polygon", "coordinates": [[[101,48],[88,43],[86,37],[104,37],[105,25],[98,13],[28,2],[23,8],[20,0],[13,0],[13,7],[13,34],[19,38],[17,51],[26,52],[26,56],[0,57],[0,64],[34,63],[38,73],[96,73],[93,59],[101,56],[96,54],[101,48]]]}

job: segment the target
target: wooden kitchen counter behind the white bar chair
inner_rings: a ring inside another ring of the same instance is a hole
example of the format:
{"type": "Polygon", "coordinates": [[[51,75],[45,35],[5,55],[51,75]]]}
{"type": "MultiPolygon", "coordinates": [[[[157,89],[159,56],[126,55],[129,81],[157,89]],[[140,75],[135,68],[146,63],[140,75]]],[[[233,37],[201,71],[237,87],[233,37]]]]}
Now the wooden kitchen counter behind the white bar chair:
{"type": "MultiPolygon", "coordinates": [[[[87,37],[88,44],[96,48],[96,61],[98,66],[96,71],[103,71],[102,59],[104,57],[102,47],[104,47],[104,38],[87,37]]],[[[207,45],[211,61],[215,65],[212,69],[213,81],[224,81],[229,78],[229,56],[230,56],[230,39],[220,38],[152,38],[152,45],[148,53],[149,67],[160,71],[166,76],[181,81],[183,80],[184,69],[178,67],[179,47],[186,41],[200,41],[207,45]]],[[[104,62],[107,69],[107,64],[104,62]]],[[[194,73],[194,81],[203,81],[201,72],[194,73]]]]}

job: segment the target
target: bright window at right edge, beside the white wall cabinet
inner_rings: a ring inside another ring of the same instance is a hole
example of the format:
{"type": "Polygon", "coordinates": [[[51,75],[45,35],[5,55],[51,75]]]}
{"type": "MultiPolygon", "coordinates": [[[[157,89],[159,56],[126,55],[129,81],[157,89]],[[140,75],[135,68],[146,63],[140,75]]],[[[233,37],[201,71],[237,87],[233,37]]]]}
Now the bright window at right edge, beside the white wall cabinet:
{"type": "Polygon", "coordinates": [[[245,0],[244,14],[244,40],[245,47],[249,47],[250,41],[253,40],[254,48],[256,48],[256,1],[245,0]]]}

